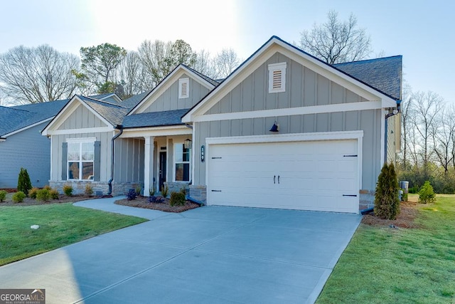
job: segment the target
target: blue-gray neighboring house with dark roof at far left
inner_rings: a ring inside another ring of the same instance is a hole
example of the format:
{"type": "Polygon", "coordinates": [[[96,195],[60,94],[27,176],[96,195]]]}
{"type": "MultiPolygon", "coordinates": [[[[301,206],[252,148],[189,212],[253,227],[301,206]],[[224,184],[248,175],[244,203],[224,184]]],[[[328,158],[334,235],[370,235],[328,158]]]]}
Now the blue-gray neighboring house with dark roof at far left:
{"type": "MultiPolygon", "coordinates": [[[[122,102],[114,93],[93,98],[122,102]]],[[[50,141],[40,132],[66,103],[68,100],[55,100],[0,107],[0,189],[17,187],[21,167],[27,169],[33,187],[48,184],[50,141]]]]}

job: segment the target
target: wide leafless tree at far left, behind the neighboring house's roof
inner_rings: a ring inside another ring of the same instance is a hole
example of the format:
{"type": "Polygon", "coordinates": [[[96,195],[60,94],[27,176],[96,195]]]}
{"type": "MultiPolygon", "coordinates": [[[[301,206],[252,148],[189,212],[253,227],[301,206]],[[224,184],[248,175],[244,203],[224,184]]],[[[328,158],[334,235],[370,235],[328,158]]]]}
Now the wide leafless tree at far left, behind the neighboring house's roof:
{"type": "Polygon", "coordinates": [[[0,55],[0,90],[15,103],[44,103],[70,98],[76,89],[72,70],[77,56],[48,45],[18,46],[0,55]]]}

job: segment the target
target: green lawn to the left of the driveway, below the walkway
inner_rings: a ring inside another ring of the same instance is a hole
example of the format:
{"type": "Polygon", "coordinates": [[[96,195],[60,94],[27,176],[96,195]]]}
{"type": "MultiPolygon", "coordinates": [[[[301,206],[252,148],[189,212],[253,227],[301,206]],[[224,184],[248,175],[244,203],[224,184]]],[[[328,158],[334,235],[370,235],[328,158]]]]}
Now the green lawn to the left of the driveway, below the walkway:
{"type": "Polygon", "coordinates": [[[147,221],[66,204],[0,207],[0,266],[147,221]],[[31,225],[40,226],[38,230],[31,225]]]}

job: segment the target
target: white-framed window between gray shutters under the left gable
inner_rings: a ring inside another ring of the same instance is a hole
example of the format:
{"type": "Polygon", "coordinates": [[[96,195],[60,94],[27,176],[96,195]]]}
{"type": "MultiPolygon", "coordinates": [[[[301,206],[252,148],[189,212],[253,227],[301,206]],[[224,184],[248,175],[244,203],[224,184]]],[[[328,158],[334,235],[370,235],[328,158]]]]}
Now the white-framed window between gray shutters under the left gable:
{"type": "Polygon", "coordinates": [[[68,142],[68,179],[93,179],[95,138],[77,138],[68,142]]]}

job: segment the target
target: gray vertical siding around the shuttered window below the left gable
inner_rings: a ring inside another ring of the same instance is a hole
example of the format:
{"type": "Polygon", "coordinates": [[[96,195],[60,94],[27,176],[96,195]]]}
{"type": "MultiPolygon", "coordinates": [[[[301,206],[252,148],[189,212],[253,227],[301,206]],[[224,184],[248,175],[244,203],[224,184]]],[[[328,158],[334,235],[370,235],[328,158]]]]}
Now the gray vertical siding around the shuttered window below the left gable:
{"type": "Polygon", "coordinates": [[[62,143],[66,142],[68,138],[87,138],[96,137],[97,141],[100,141],[100,182],[107,182],[111,175],[111,140],[114,136],[114,132],[87,132],[77,133],[68,135],[52,135],[52,172],[50,174],[50,180],[61,181],[62,180],[62,143]]]}

